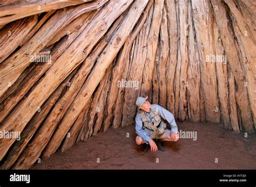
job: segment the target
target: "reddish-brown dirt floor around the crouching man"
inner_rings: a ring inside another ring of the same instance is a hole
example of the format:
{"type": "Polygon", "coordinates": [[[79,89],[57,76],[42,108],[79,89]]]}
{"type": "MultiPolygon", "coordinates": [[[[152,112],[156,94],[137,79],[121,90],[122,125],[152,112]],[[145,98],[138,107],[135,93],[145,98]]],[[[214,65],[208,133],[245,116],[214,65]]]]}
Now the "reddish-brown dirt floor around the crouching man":
{"type": "Polygon", "coordinates": [[[197,132],[197,140],[164,142],[165,152],[145,153],[135,144],[134,126],[110,128],[64,153],[58,150],[32,169],[256,169],[255,134],[245,138],[244,133],[213,124],[178,123],[178,127],[197,132]]]}

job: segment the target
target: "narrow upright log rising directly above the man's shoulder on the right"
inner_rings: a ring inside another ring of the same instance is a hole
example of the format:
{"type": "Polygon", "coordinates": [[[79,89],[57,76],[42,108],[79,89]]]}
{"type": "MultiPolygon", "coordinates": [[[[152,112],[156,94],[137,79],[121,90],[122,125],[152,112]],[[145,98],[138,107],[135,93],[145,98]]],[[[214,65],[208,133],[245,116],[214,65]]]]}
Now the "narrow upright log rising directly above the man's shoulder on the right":
{"type": "Polygon", "coordinates": [[[167,27],[169,31],[169,58],[166,70],[166,87],[167,87],[167,110],[174,115],[174,76],[177,64],[177,44],[178,44],[178,28],[177,28],[177,12],[176,4],[172,0],[165,1],[167,27]]]}

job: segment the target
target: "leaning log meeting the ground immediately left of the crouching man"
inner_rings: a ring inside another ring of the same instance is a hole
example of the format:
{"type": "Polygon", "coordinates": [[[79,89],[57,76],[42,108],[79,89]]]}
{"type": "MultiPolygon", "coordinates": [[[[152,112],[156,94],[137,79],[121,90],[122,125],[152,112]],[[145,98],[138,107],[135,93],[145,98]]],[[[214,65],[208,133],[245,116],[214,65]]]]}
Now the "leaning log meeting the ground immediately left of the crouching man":
{"type": "Polygon", "coordinates": [[[150,1],[147,5],[145,14],[143,15],[143,21],[140,23],[141,25],[143,25],[143,28],[140,29],[139,27],[139,29],[136,30],[136,33],[138,31],[140,32],[137,35],[136,40],[134,41],[133,58],[130,62],[129,74],[127,75],[127,81],[130,81],[132,83],[132,88],[124,88],[125,92],[121,122],[122,127],[134,124],[133,117],[136,114],[137,108],[136,99],[140,94],[143,68],[147,55],[147,37],[150,32],[151,19],[153,14],[152,4],[153,2],[150,1]]]}

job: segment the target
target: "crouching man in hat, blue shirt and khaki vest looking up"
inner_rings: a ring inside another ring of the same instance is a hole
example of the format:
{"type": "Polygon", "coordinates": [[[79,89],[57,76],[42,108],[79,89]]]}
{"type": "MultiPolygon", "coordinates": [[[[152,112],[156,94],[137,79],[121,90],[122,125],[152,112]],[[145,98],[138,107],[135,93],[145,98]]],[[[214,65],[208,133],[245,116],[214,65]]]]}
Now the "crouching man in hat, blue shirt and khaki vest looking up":
{"type": "Polygon", "coordinates": [[[147,97],[138,97],[136,105],[138,106],[135,126],[138,134],[136,143],[137,145],[145,143],[143,144],[145,152],[149,150],[149,145],[152,152],[156,152],[158,149],[164,151],[162,141],[179,140],[178,127],[171,112],[160,105],[151,105],[147,97]],[[171,131],[166,129],[166,124],[161,118],[168,121],[171,131]],[[153,139],[156,139],[156,142],[153,139]]]}

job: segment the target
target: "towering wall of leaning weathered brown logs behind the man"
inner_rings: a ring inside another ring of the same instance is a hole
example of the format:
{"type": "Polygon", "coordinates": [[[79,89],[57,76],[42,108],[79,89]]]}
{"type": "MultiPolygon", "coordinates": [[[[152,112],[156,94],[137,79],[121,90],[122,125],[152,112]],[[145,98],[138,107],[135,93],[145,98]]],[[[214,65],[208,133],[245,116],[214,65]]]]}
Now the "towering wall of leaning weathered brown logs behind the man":
{"type": "Polygon", "coordinates": [[[0,168],[134,125],[138,96],[179,121],[254,133],[255,10],[253,0],[1,2],[0,168]]]}

